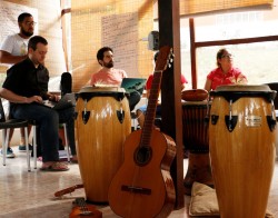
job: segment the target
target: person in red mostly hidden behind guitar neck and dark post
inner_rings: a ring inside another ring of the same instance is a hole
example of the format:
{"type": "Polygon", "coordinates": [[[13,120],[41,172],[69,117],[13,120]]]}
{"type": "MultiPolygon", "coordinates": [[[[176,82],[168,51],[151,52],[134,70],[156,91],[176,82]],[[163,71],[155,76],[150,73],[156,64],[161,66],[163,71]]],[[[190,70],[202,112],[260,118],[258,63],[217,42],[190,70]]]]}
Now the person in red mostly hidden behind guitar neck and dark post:
{"type": "MultiPolygon", "coordinates": [[[[155,62],[157,61],[158,59],[158,54],[159,54],[159,51],[156,52],[155,57],[153,57],[153,60],[155,62]]],[[[146,90],[147,90],[147,99],[149,98],[150,96],[150,89],[151,89],[151,83],[152,83],[152,79],[153,79],[153,75],[150,75],[148,80],[147,80],[147,83],[146,83],[146,90]]],[[[187,80],[186,78],[183,77],[183,75],[181,75],[181,78],[180,78],[180,81],[181,81],[181,91],[186,88],[186,83],[187,83],[187,80]]],[[[136,110],[136,113],[137,113],[137,119],[138,119],[138,123],[139,126],[142,128],[143,126],[143,121],[145,121],[145,113],[147,111],[147,105],[138,108],[136,110]]],[[[158,106],[157,106],[157,111],[156,111],[156,117],[159,118],[161,116],[161,107],[160,107],[160,103],[159,103],[159,99],[158,99],[158,106]]],[[[156,125],[156,123],[155,123],[156,125]]]]}

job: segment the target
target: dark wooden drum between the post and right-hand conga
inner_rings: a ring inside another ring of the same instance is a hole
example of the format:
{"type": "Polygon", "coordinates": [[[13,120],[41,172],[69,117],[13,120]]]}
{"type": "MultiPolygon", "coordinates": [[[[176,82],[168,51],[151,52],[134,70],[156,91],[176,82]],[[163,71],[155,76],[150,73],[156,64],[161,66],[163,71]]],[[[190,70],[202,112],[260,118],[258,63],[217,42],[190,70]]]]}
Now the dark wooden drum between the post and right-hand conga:
{"type": "Polygon", "coordinates": [[[209,137],[206,117],[210,102],[201,89],[182,92],[182,138],[188,150],[188,169],[183,179],[185,194],[191,195],[195,181],[214,187],[209,159],[209,137]]]}

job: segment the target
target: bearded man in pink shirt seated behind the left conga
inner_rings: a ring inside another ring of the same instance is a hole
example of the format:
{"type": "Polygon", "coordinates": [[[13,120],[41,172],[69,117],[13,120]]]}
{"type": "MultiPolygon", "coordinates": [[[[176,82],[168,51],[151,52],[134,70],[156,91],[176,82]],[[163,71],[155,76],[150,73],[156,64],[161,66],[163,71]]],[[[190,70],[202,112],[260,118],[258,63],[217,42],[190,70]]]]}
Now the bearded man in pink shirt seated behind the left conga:
{"type": "MultiPolygon", "coordinates": [[[[109,47],[99,49],[97,59],[102,68],[91,76],[90,85],[116,85],[120,87],[122,78],[128,76],[125,70],[113,68],[113,50],[109,47]]],[[[135,109],[140,99],[141,95],[138,91],[130,92],[130,96],[128,96],[130,111],[135,109]]]]}

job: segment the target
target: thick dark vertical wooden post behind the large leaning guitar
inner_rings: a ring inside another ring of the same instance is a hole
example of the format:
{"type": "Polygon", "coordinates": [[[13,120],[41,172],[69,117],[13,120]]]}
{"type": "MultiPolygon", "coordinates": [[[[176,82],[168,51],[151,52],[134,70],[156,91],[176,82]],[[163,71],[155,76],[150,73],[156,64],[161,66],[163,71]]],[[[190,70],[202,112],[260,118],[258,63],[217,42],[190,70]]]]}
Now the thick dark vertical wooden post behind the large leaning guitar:
{"type": "Polygon", "coordinates": [[[159,46],[173,48],[175,65],[163,72],[161,82],[161,131],[173,138],[177,156],[171,166],[176,188],[176,209],[185,206],[183,196],[183,145],[181,123],[181,66],[179,0],[158,0],[159,46]]]}

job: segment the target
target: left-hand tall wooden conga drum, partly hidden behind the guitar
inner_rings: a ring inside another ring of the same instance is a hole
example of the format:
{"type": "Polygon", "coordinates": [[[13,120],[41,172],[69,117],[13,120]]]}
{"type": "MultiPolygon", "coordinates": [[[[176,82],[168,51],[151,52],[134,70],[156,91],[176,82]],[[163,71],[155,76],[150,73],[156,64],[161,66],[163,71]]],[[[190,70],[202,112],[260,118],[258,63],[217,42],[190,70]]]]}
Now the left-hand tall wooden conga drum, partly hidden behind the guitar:
{"type": "Polygon", "coordinates": [[[108,202],[108,188],[123,162],[123,142],[131,132],[125,89],[85,87],[76,106],[76,140],[87,201],[108,202]]]}

